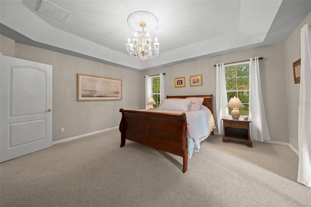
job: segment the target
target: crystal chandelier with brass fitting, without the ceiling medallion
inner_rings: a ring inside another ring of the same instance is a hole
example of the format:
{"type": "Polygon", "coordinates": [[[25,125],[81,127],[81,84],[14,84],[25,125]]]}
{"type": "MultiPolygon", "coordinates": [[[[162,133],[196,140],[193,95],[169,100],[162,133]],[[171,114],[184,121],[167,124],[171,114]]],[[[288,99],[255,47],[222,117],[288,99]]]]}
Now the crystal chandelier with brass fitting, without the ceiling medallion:
{"type": "Polygon", "coordinates": [[[144,31],[144,27],[146,27],[146,23],[140,22],[140,27],[142,27],[142,32],[138,32],[134,34],[134,38],[128,38],[128,43],[126,43],[126,49],[128,53],[135,57],[140,58],[141,60],[146,60],[148,58],[154,58],[159,54],[160,44],[157,42],[157,38],[155,38],[154,48],[151,48],[151,34],[144,31]]]}

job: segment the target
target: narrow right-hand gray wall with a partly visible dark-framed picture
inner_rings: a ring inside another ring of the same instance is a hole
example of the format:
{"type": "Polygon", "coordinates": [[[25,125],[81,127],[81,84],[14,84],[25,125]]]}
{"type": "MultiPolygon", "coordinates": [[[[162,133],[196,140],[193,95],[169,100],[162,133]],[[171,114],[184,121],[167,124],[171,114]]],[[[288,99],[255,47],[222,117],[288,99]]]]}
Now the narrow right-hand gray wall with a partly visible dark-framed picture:
{"type": "Polygon", "coordinates": [[[311,23],[311,13],[284,42],[286,96],[289,143],[298,151],[298,111],[300,84],[294,84],[293,63],[301,57],[300,32],[303,25],[311,23]]]}

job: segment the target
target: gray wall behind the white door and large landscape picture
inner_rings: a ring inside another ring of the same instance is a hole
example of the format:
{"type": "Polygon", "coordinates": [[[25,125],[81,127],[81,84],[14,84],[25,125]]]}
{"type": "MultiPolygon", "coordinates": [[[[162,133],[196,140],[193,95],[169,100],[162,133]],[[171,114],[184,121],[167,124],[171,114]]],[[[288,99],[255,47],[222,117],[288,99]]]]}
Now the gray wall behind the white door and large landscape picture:
{"type": "Polygon", "coordinates": [[[119,109],[139,109],[137,71],[14,43],[2,35],[0,41],[3,55],[53,66],[53,141],[118,127],[119,109]],[[77,73],[121,79],[122,100],[77,101],[77,73]],[[60,133],[61,127],[65,132],[60,133]]]}

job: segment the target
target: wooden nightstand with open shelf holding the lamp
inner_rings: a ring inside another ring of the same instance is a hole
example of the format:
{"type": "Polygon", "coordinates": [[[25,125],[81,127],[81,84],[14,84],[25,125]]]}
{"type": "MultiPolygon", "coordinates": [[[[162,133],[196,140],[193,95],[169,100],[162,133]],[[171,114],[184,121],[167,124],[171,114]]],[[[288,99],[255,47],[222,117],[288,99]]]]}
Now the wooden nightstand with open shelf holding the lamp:
{"type": "Polygon", "coordinates": [[[248,147],[253,147],[253,143],[249,136],[249,123],[251,120],[232,119],[231,117],[224,117],[224,137],[223,142],[228,140],[237,142],[244,142],[248,147]]]}

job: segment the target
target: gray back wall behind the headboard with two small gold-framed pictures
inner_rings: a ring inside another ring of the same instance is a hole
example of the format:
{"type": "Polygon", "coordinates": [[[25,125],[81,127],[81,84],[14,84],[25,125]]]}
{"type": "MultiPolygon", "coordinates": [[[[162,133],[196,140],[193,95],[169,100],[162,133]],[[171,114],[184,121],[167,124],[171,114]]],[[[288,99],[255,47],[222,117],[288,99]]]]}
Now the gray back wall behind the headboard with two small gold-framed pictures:
{"type": "MultiPolygon", "coordinates": [[[[266,46],[220,55],[190,63],[176,64],[141,73],[141,79],[145,75],[158,74],[164,72],[166,95],[214,95],[213,113],[216,114],[215,95],[216,95],[216,71],[214,64],[231,63],[249,58],[263,57],[259,61],[261,86],[267,124],[271,140],[288,143],[287,130],[287,106],[286,106],[286,83],[284,70],[284,47],[283,44],[266,46]],[[189,76],[202,74],[202,86],[190,87],[189,76]],[[185,88],[174,88],[174,78],[185,77],[185,88]]],[[[141,103],[144,99],[144,84],[141,83],[141,103]]],[[[143,106],[141,106],[143,107],[143,106]]],[[[214,115],[215,117],[215,115],[214,115]]],[[[216,120],[216,119],[215,119],[216,120]]]]}

